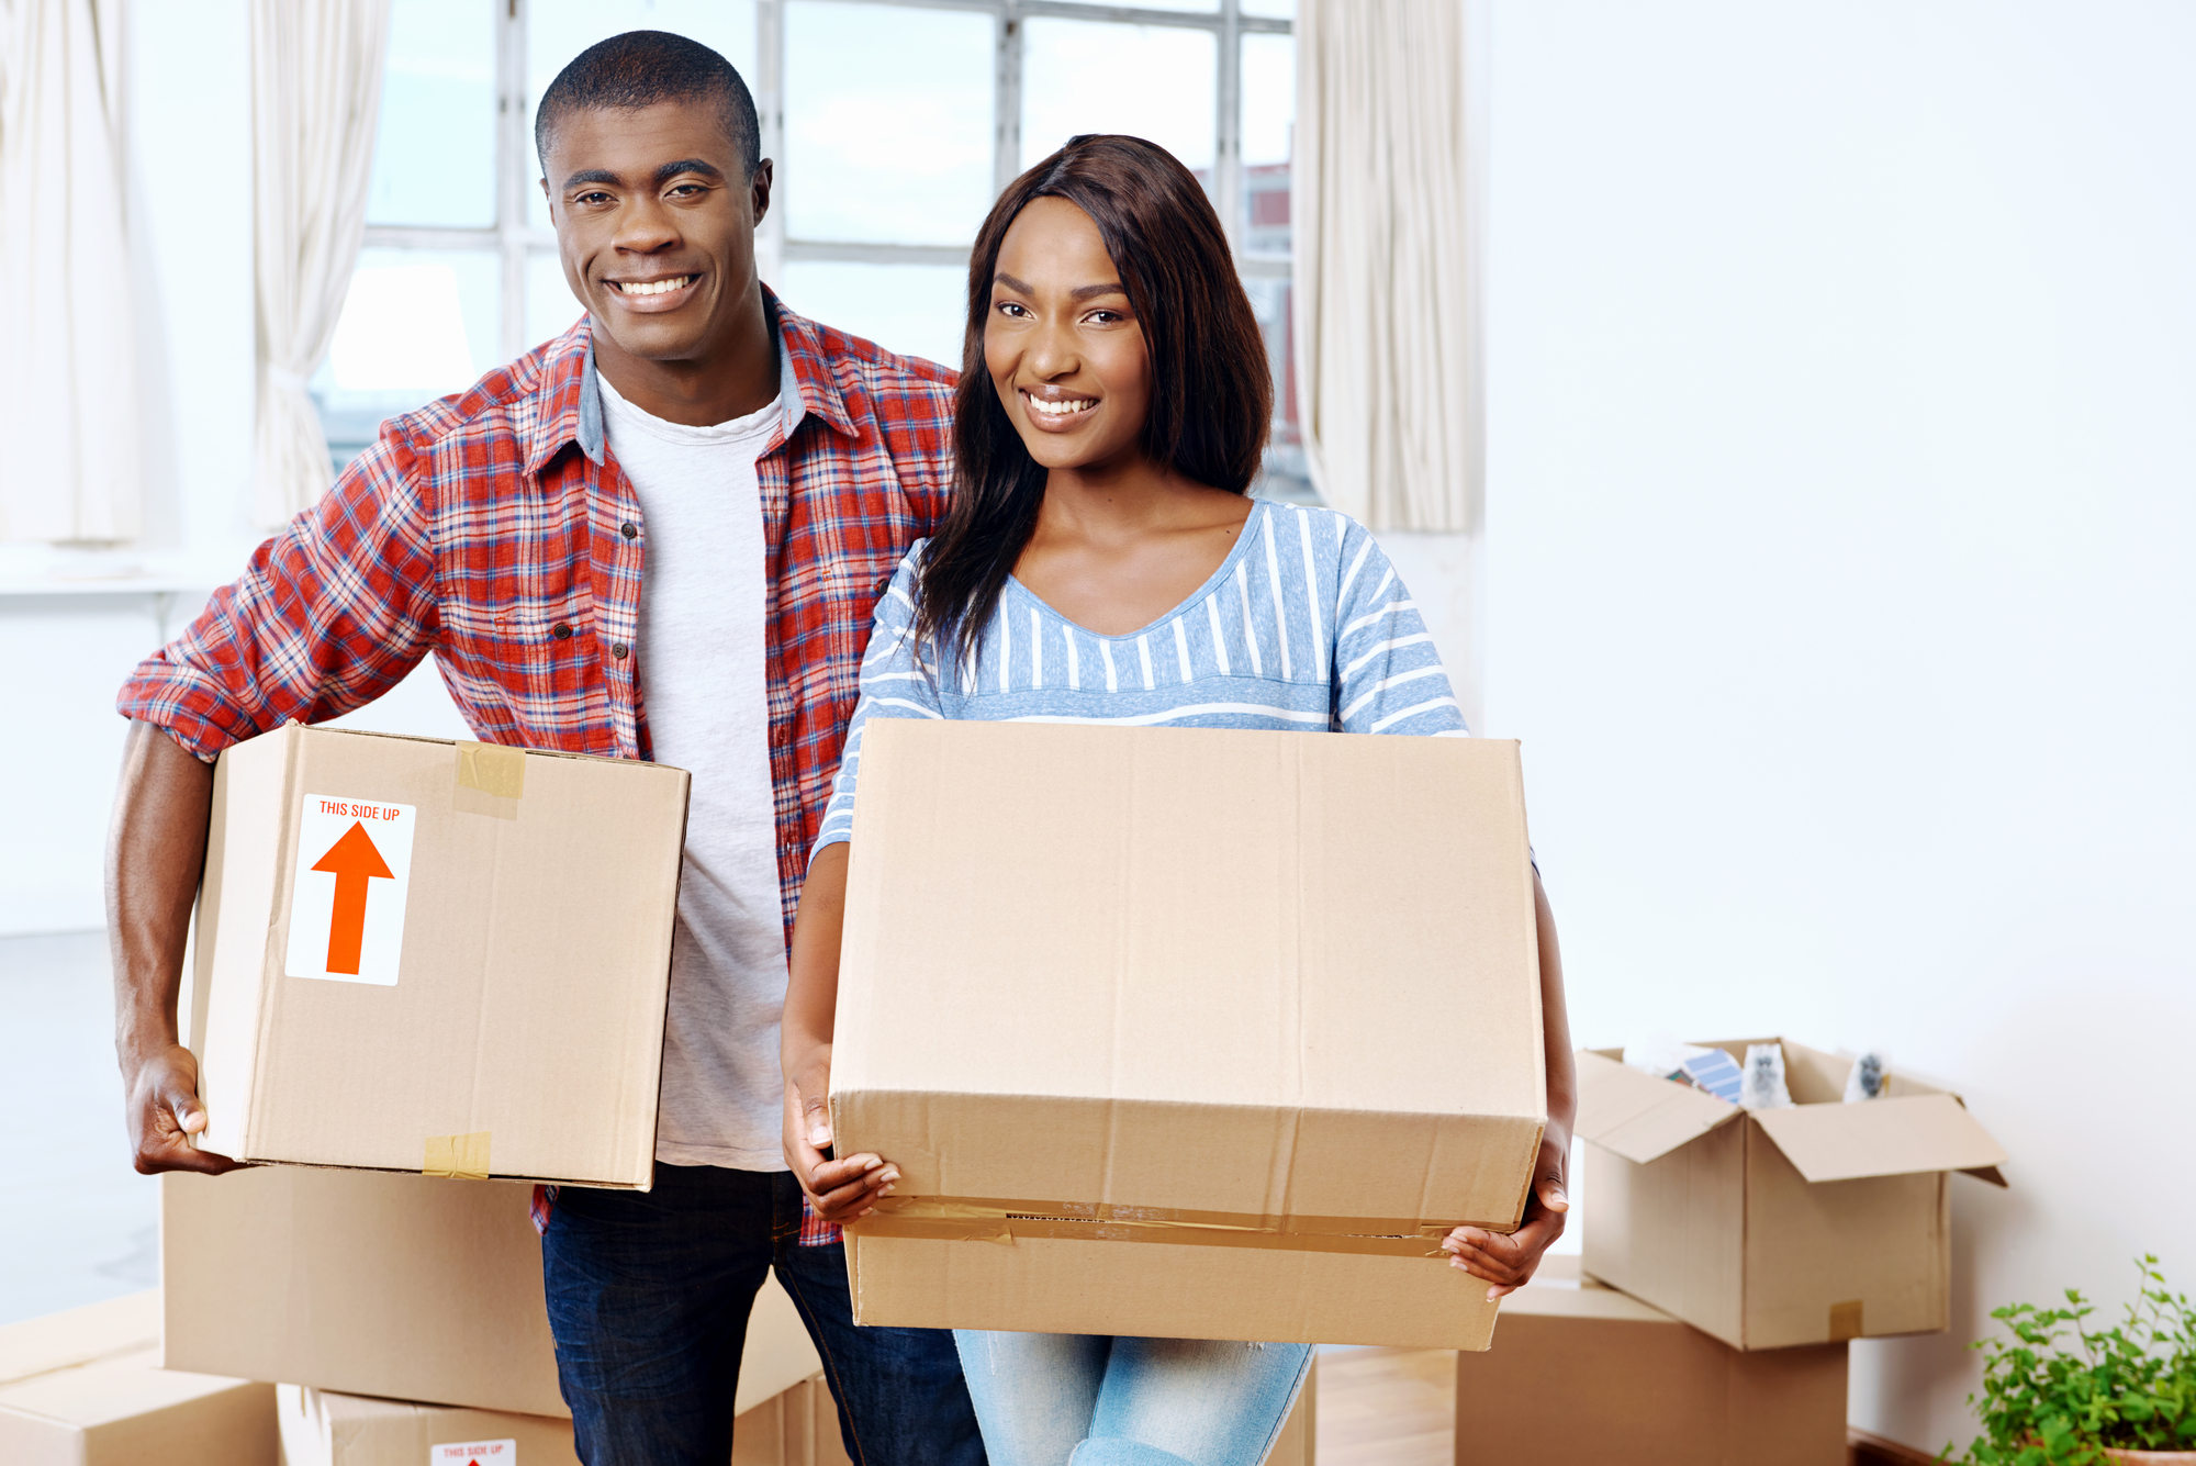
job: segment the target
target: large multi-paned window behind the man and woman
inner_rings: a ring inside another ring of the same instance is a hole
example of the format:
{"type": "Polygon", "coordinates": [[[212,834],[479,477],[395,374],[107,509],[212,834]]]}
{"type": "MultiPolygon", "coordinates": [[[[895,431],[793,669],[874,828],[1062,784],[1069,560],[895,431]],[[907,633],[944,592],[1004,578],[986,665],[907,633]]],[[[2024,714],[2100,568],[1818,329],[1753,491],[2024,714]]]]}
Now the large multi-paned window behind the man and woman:
{"type": "Polygon", "coordinates": [[[586,46],[679,31],[747,77],[777,160],[762,277],[793,309],[960,362],[977,224],[1078,132],[1133,132],[1206,184],[1274,362],[1263,492],[1309,496],[1289,347],[1293,0],[393,0],[367,246],[314,397],[343,463],[376,426],[567,329],[534,160],[586,46]],[[1032,13],[1034,11],[1034,13],[1032,13]],[[1133,81],[1122,81],[1133,79],[1133,81]]]}

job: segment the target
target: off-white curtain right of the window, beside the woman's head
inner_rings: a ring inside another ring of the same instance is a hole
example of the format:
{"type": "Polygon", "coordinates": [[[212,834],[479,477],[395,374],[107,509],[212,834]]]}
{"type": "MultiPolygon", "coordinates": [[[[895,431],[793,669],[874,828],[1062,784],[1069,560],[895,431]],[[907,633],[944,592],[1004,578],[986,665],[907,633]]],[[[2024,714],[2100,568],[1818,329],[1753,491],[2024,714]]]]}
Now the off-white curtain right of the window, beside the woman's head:
{"type": "Polygon", "coordinates": [[[1467,11],[1467,0],[1296,7],[1298,415],[1313,485],[1372,529],[1478,529],[1467,11]]]}

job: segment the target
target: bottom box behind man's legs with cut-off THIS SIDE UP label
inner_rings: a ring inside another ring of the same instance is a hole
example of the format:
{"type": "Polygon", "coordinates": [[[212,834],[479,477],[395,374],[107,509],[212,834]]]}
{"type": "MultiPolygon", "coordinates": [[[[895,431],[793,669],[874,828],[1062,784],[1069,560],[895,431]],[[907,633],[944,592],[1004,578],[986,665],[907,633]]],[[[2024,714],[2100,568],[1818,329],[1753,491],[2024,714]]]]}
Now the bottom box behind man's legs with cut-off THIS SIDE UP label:
{"type": "MultiPolygon", "coordinates": [[[[283,1466],[580,1466],[571,1420],[369,1400],[283,1385],[283,1466]]],[[[731,1426],[731,1466],[850,1466],[839,1409],[815,1374],[731,1426]]]]}

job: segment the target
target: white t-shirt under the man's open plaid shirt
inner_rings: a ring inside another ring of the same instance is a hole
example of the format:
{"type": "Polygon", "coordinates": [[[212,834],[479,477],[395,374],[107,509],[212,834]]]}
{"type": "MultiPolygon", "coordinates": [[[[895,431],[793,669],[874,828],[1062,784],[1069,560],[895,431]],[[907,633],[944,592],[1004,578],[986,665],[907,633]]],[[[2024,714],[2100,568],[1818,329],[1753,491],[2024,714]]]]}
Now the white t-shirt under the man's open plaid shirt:
{"type": "Polygon", "coordinates": [[[650,417],[595,373],[641,498],[639,676],[654,759],[694,775],[663,1023],[657,1159],[784,1170],[777,1018],[786,937],[764,702],[755,456],[780,402],[714,428],[650,417]]]}

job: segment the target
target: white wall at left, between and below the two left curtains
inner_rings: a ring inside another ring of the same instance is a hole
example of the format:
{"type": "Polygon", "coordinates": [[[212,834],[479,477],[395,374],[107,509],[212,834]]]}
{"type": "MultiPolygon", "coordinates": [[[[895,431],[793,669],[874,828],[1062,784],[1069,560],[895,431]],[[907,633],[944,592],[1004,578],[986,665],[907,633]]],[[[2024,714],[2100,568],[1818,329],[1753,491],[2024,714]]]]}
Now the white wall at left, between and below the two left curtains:
{"type": "MultiPolygon", "coordinates": [[[[103,922],[99,860],[125,724],[114,691],[163,625],[237,575],[253,472],[250,22],[244,0],[125,9],[132,290],[145,369],[147,535],[119,551],[0,546],[0,665],[18,700],[0,720],[0,766],[18,770],[0,819],[0,935],[103,922]],[[26,579],[83,579],[22,595],[26,579]],[[195,586],[165,597],[97,588],[136,573],[195,586]],[[29,836],[29,838],[20,838],[29,836]]],[[[369,726],[461,735],[426,667],[376,704],[369,726]]]]}

